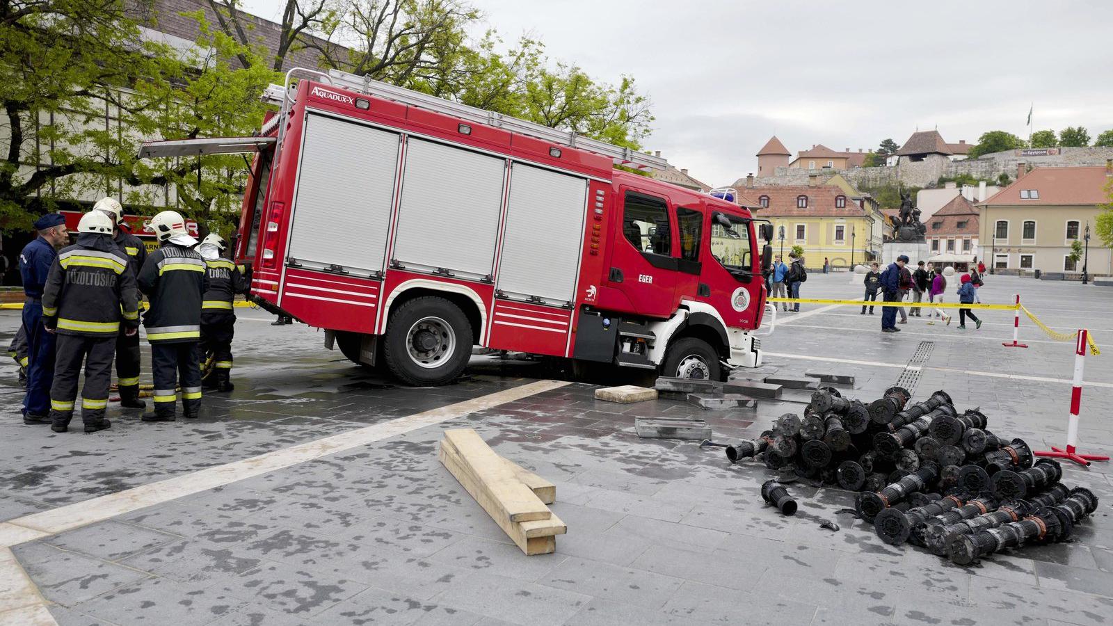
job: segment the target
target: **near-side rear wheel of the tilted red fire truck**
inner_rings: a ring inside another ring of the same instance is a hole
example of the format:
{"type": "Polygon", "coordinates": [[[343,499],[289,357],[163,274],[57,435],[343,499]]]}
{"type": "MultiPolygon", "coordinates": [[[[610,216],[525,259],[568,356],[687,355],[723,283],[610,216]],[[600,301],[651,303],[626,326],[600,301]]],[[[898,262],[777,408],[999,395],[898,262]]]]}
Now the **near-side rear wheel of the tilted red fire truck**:
{"type": "Polygon", "coordinates": [[[406,384],[450,383],[472,355],[472,324],[459,306],[432,295],[400,306],[386,324],[383,356],[406,384]]]}

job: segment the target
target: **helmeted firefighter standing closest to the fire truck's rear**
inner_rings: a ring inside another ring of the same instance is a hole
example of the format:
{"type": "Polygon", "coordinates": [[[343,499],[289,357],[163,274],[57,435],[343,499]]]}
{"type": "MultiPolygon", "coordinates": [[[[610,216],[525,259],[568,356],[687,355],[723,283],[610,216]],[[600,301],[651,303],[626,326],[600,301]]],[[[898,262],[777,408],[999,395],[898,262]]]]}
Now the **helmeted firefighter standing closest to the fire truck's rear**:
{"type": "Polygon", "coordinates": [[[244,275],[236,264],[223,258],[220,253],[228,244],[216,233],[209,234],[198,246],[198,252],[205,260],[208,276],[208,288],[201,302],[201,342],[200,359],[203,364],[211,360],[211,370],[205,376],[203,387],[217,391],[232,391],[229,376],[232,374],[232,336],[236,324],[236,313],[233,300],[237,293],[247,291],[244,275]]]}

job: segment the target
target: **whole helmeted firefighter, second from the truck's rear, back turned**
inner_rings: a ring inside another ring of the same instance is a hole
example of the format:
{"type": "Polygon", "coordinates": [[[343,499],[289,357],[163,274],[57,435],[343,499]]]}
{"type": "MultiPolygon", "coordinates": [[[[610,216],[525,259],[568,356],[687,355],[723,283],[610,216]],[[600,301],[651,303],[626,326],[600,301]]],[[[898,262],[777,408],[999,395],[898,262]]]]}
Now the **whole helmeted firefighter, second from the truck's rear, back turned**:
{"type": "Polygon", "coordinates": [[[139,290],[150,300],[144,314],[155,378],[155,411],[146,422],[173,422],[175,388],[181,384],[183,414],[196,418],[201,405],[201,372],[197,342],[201,334],[201,294],[205,261],[194,246],[177,212],[164,211],[151,218],[160,247],[147,255],[139,270],[139,290]]]}

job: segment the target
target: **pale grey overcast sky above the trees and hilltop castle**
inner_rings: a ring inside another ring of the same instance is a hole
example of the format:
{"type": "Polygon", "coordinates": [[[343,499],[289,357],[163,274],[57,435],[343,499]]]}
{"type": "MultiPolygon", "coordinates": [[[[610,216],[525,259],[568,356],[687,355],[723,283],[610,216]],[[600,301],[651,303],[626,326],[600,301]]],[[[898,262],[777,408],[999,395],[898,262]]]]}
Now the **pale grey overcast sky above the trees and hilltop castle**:
{"type": "MultiPolygon", "coordinates": [[[[1113,128],[1113,2],[472,0],[508,41],[632,75],[653,100],[661,150],[705,183],[757,169],[777,134],[794,154],[897,144],[917,127],[951,143],[985,130],[1113,128]]],[[[246,0],[276,18],[282,0],[246,0]]]]}

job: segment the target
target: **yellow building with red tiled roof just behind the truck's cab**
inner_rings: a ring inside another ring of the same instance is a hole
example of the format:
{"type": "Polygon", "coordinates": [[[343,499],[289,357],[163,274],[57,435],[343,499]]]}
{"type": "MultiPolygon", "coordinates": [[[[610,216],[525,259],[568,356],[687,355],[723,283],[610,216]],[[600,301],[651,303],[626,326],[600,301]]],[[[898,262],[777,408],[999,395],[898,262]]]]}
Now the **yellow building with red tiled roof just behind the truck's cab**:
{"type": "Polygon", "coordinates": [[[824,258],[835,267],[879,258],[884,217],[877,203],[841,176],[825,184],[817,178],[810,185],[739,188],[742,203],[759,207],[757,216],[772,223],[774,253],[787,260],[792,246],[799,245],[805,265],[816,270],[824,258]]]}

